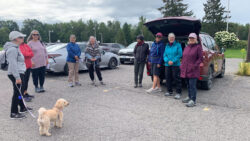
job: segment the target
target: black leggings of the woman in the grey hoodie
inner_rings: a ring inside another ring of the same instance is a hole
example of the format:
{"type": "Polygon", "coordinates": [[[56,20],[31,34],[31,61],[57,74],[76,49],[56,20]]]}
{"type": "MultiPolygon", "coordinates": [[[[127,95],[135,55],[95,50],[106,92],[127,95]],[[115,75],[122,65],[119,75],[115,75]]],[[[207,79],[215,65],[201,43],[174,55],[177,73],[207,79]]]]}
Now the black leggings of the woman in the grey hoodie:
{"type": "MultiPolygon", "coordinates": [[[[21,88],[21,85],[16,84],[16,78],[13,75],[8,75],[9,79],[12,82],[13,85],[13,96],[12,96],[12,102],[11,102],[11,113],[18,113],[18,105],[21,109],[24,109],[25,106],[23,104],[22,99],[19,99],[18,97],[21,96],[18,89],[21,88]]],[[[24,81],[24,74],[20,74],[22,82],[24,81]]],[[[23,94],[24,90],[21,89],[21,93],[23,94]]]]}

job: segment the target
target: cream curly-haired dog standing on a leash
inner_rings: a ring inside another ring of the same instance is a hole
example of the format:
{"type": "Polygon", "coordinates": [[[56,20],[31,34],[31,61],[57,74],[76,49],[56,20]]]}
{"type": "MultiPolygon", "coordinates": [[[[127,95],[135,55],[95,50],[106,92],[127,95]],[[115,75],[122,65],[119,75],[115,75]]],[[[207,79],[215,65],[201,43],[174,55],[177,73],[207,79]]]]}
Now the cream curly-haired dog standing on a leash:
{"type": "Polygon", "coordinates": [[[38,110],[39,116],[37,119],[37,123],[40,126],[39,128],[40,135],[51,136],[51,133],[49,133],[50,122],[54,122],[55,127],[62,128],[62,122],[63,122],[62,110],[64,107],[68,105],[69,102],[61,98],[56,101],[56,104],[52,109],[46,110],[45,108],[41,107],[38,110]]]}

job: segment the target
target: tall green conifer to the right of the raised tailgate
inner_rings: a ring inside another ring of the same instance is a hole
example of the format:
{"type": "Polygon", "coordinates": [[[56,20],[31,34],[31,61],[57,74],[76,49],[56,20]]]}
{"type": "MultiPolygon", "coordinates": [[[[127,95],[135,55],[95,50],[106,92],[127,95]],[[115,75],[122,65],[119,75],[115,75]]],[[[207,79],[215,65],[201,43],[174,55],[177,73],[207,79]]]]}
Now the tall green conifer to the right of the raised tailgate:
{"type": "Polygon", "coordinates": [[[215,32],[225,29],[225,7],[222,6],[221,0],[207,0],[207,3],[203,5],[205,11],[205,16],[202,19],[203,29],[214,36],[215,32]]]}

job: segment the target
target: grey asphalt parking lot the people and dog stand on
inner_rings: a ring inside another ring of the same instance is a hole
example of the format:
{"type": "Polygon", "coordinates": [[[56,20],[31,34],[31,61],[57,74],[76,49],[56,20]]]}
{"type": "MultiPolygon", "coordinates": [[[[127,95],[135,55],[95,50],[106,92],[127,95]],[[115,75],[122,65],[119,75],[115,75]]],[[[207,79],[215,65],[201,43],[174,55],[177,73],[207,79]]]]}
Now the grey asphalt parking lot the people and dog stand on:
{"type": "MultiPolygon", "coordinates": [[[[90,85],[87,72],[80,74],[81,87],[69,88],[67,76],[48,75],[46,93],[35,94],[40,107],[52,108],[58,98],[70,102],[64,110],[62,129],[52,128],[51,137],[39,135],[36,119],[9,118],[12,97],[6,72],[0,72],[1,141],[246,141],[250,140],[250,78],[235,75],[240,59],[227,59],[226,75],[215,79],[212,90],[198,90],[197,106],[185,107],[164,93],[147,94],[133,88],[133,65],[103,70],[105,86],[90,85]]],[[[165,90],[165,87],[163,87],[165,90]]],[[[30,81],[30,92],[34,92],[30,81]]],[[[183,97],[187,89],[184,88],[183,97]]]]}

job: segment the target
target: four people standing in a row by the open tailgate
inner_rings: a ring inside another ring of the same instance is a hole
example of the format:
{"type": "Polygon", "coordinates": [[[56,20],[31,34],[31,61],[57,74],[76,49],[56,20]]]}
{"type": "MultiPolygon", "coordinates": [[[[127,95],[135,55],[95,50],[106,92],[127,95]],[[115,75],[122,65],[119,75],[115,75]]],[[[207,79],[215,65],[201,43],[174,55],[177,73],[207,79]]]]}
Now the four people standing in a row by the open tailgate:
{"type": "Polygon", "coordinates": [[[188,44],[182,49],[181,44],[176,41],[175,34],[168,34],[168,43],[163,41],[163,34],[157,33],[154,43],[149,51],[148,44],[144,43],[142,35],[137,36],[137,45],[134,49],[134,78],[135,88],[142,87],[142,79],[145,63],[148,61],[150,72],[153,77],[153,86],[147,93],[161,92],[160,75],[165,72],[167,92],[165,96],[173,96],[173,82],[176,86],[175,99],[182,95],[182,78],[188,86],[188,97],[182,102],[187,107],[196,105],[196,83],[200,77],[200,64],[202,63],[202,47],[195,33],[188,37],[188,44]],[[165,68],[164,68],[165,67],[165,68]],[[162,69],[165,69],[162,71],[162,69]],[[138,82],[139,77],[139,82],[138,82]]]}

